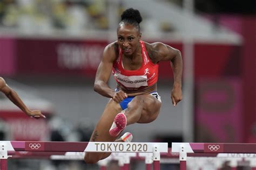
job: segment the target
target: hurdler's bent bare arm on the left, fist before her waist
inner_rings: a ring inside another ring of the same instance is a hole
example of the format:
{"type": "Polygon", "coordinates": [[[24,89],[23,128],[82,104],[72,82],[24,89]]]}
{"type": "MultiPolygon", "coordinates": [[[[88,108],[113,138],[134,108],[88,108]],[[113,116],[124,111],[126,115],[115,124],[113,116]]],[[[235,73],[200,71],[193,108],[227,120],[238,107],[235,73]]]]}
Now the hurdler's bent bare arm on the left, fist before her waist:
{"type": "Polygon", "coordinates": [[[113,62],[116,60],[116,49],[114,43],[105,47],[102,61],[100,61],[94,83],[94,90],[105,97],[113,98],[116,102],[121,102],[127,95],[123,91],[118,93],[111,89],[107,82],[112,72],[113,62]]]}

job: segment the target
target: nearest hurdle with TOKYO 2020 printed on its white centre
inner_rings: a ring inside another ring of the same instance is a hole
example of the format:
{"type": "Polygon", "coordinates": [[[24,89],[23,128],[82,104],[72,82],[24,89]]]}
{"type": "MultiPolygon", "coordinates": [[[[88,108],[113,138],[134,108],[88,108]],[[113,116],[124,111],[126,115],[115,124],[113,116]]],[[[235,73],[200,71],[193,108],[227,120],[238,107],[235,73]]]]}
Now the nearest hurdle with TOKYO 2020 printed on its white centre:
{"type": "Polygon", "coordinates": [[[144,152],[153,153],[154,170],[160,169],[160,153],[168,152],[167,143],[0,141],[1,170],[7,170],[8,152],[144,152]]]}

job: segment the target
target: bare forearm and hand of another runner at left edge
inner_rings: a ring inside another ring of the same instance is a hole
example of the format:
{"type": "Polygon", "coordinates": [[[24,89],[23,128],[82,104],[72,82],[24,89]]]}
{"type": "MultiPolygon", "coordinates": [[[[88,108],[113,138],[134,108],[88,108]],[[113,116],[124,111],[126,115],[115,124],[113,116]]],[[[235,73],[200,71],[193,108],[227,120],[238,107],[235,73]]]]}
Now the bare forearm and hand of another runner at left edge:
{"type": "Polygon", "coordinates": [[[19,98],[18,94],[16,93],[16,91],[14,91],[12,88],[10,88],[4,81],[4,79],[2,77],[0,77],[0,91],[2,91],[2,93],[4,93],[12,103],[14,103],[15,105],[17,105],[17,107],[19,109],[21,109],[23,112],[25,112],[26,115],[28,116],[32,116],[34,118],[40,118],[40,117],[44,117],[44,115],[42,115],[40,110],[30,110],[28,107],[26,107],[26,105],[23,103],[23,101],[21,100],[21,98],[19,98]]]}

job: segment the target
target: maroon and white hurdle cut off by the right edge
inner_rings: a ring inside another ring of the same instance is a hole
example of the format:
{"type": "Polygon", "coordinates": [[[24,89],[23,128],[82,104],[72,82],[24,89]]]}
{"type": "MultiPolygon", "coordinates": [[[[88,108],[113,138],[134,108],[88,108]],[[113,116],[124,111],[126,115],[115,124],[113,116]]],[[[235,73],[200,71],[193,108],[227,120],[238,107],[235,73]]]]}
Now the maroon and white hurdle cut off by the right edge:
{"type": "Polygon", "coordinates": [[[186,170],[187,153],[256,153],[256,143],[172,143],[179,153],[180,170],[186,170]]]}

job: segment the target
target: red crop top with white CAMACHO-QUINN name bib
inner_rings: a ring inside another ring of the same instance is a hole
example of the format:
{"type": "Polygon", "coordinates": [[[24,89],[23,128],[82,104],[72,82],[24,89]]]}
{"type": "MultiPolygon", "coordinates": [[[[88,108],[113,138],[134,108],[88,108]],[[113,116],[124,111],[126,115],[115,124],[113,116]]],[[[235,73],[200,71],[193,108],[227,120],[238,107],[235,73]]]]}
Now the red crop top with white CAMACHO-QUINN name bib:
{"type": "Polygon", "coordinates": [[[120,86],[125,88],[140,88],[152,86],[158,79],[158,63],[154,64],[147,54],[145,44],[143,41],[139,41],[142,48],[142,66],[137,70],[126,70],[123,67],[123,51],[119,47],[119,55],[116,61],[113,63],[112,73],[114,79],[120,86]]]}

